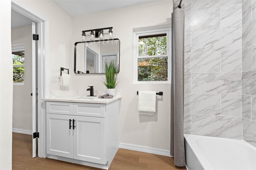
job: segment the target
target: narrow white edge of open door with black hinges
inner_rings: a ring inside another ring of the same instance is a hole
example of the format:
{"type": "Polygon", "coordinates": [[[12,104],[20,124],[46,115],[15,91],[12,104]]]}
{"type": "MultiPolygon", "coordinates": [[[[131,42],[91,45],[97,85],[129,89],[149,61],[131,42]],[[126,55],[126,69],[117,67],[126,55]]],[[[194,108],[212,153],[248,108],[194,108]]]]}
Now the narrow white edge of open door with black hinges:
{"type": "MultiPolygon", "coordinates": [[[[36,23],[32,22],[32,35],[36,34],[36,23]]],[[[36,78],[37,78],[37,42],[32,40],[32,134],[37,132],[37,95],[36,95],[36,78]]],[[[32,157],[36,157],[36,138],[32,135],[32,157]]]]}

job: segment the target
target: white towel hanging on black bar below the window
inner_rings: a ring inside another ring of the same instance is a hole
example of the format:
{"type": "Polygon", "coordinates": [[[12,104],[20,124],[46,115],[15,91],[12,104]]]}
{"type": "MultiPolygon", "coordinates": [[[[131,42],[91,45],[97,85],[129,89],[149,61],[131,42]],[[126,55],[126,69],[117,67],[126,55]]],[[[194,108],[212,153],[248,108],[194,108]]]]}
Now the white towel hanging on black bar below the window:
{"type": "Polygon", "coordinates": [[[153,116],[156,112],[156,92],[139,91],[138,111],[140,115],[153,116]]]}

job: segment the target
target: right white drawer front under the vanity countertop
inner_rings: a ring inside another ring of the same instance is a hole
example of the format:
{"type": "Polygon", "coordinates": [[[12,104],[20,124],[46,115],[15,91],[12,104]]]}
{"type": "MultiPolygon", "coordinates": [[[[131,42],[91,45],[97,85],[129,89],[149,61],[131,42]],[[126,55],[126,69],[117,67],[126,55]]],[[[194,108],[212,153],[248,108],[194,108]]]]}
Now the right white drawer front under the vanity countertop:
{"type": "Polygon", "coordinates": [[[106,105],[94,103],[74,103],[74,115],[106,117],[106,105]]]}

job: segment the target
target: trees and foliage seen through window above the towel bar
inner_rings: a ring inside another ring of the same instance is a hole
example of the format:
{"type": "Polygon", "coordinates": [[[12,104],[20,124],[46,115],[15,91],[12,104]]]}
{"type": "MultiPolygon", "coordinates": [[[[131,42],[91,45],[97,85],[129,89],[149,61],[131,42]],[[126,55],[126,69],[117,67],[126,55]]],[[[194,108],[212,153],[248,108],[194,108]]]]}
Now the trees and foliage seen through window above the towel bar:
{"type": "MultiPolygon", "coordinates": [[[[166,35],[139,38],[139,56],[166,55],[166,35]]],[[[168,57],[138,59],[138,81],[167,81],[168,57]]]]}

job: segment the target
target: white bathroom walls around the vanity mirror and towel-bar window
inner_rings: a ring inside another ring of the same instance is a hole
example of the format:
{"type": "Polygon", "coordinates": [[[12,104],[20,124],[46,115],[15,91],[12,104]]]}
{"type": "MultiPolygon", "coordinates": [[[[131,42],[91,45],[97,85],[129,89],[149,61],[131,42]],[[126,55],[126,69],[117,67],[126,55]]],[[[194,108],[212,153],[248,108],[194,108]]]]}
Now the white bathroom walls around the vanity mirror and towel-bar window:
{"type": "MultiPolygon", "coordinates": [[[[120,142],[170,149],[170,84],[133,83],[133,28],[170,24],[172,1],[154,2],[72,19],[51,1],[13,2],[47,21],[49,44],[46,65],[50,69],[50,75],[58,74],[60,67],[69,68],[71,90],[86,90],[90,85],[98,91],[106,90],[102,84],[102,75],[73,73],[73,47],[75,42],[81,41],[82,30],[113,26],[114,37],[120,39],[120,142]],[[136,91],[139,90],[163,91],[164,95],[158,96],[157,113],[154,116],[138,115],[136,91]]],[[[47,75],[48,79],[50,75],[47,75]]],[[[59,90],[62,87],[59,83],[51,83],[50,89],[59,90]]]]}

